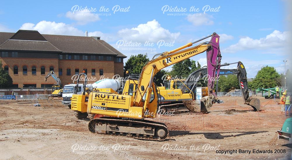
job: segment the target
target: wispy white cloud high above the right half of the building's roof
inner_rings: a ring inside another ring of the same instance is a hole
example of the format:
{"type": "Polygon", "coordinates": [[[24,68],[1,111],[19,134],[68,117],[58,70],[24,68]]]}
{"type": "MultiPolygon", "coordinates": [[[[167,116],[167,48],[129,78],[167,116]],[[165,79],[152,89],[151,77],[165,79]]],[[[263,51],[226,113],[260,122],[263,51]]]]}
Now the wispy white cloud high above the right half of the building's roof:
{"type": "Polygon", "coordinates": [[[95,21],[100,20],[98,15],[89,11],[75,11],[74,13],[71,11],[68,11],[66,13],[66,17],[72,20],[76,20],[77,24],[79,25],[85,25],[89,22],[95,22],[95,21]]]}

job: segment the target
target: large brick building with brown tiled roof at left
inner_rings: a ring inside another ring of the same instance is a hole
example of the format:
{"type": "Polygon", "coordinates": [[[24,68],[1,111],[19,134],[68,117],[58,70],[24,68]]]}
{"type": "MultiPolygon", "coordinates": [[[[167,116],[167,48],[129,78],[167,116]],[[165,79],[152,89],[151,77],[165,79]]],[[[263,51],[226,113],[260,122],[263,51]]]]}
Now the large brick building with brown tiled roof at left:
{"type": "MultiPolygon", "coordinates": [[[[123,76],[124,54],[100,37],[44,35],[33,30],[0,32],[0,61],[13,79],[13,87],[51,87],[54,70],[63,85],[72,76],[87,72],[89,78],[123,76]]],[[[92,83],[92,82],[91,82],[92,83]]]]}

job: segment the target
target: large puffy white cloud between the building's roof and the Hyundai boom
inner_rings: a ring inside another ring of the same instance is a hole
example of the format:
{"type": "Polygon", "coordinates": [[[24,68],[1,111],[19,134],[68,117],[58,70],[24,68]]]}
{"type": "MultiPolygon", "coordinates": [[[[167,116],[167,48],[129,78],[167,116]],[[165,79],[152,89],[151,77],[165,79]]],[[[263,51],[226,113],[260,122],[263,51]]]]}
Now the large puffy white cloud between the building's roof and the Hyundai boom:
{"type": "Polygon", "coordinates": [[[171,33],[169,30],[161,27],[155,19],[145,24],[139,24],[131,29],[122,29],[118,31],[118,36],[126,41],[142,42],[150,41],[157,43],[159,40],[172,42],[177,39],[180,32],[171,33]]]}

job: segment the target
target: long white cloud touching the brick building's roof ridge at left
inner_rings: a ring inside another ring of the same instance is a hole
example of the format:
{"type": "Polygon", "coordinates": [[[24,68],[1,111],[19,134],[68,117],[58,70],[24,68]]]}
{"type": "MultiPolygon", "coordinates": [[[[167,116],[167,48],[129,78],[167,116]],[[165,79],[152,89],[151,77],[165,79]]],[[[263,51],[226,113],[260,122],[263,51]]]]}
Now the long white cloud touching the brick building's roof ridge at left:
{"type": "Polygon", "coordinates": [[[84,36],[84,32],[65,23],[56,23],[51,21],[40,21],[36,25],[33,23],[24,23],[20,30],[37,30],[41,34],[51,35],[75,35],[84,36]]]}

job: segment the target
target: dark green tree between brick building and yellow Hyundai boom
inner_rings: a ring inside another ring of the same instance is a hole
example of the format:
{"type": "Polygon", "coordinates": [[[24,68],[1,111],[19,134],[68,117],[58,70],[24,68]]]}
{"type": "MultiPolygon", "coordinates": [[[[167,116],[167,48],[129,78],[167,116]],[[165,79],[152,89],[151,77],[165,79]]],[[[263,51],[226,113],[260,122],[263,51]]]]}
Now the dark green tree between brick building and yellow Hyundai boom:
{"type": "Polygon", "coordinates": [[[124,66],[124,74],[126,74],[126,71],[132,74],[140,74],[143,66],[148,61],[147,54],[132,55],[124,66]]]}

